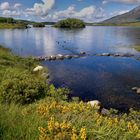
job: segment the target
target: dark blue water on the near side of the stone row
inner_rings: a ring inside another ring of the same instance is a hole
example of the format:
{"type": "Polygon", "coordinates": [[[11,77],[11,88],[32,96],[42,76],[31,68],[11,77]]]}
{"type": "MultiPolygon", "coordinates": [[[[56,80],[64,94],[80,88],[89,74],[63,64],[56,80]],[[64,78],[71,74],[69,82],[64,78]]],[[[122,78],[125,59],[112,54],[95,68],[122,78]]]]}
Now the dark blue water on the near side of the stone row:
{"type": "Polygon", "coordinates": [[[140,63],[134,59],[88,57],[43,64],[55,86],[69,87],[84,101],[100,100],[120,110],[140,108],[140,96],[131,90],[140,85],[140,63]]]}

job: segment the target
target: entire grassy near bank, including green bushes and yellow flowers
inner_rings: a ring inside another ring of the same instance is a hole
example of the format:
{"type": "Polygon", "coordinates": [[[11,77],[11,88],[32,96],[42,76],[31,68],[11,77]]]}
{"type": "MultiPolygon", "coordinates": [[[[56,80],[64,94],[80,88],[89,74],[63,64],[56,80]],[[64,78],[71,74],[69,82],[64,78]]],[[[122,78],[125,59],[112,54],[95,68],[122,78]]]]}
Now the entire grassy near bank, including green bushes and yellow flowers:
{"type": "Polygon", "coordinates": [[[99,114],[67,89],[46,83],[38,62],[0,47],[1,140],[139,140],[140,112],[99,114]]]}

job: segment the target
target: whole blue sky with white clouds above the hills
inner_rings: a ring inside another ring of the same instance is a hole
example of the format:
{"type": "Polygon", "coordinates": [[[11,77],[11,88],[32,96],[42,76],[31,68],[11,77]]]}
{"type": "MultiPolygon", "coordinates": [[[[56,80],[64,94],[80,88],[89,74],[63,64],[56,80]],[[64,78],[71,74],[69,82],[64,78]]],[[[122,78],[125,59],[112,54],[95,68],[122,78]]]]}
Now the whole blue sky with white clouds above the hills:
{"type": "Polygon", "coordinates": [[[99,22],[139,5],[140,0],[0,0],[0,16],[39,22],[65,18],[99,22]]]}

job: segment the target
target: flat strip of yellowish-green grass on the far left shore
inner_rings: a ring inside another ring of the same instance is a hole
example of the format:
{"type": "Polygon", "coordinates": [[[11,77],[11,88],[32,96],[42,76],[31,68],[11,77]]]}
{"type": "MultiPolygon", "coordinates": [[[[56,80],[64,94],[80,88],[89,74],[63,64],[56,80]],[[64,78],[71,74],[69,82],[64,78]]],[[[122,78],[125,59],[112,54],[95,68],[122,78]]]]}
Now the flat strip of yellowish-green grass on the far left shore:
{"type": "Polygon", "coordinates": [[[0,29],[26,29],[27,25],[21,23],[0,23],[0,29]]]}

